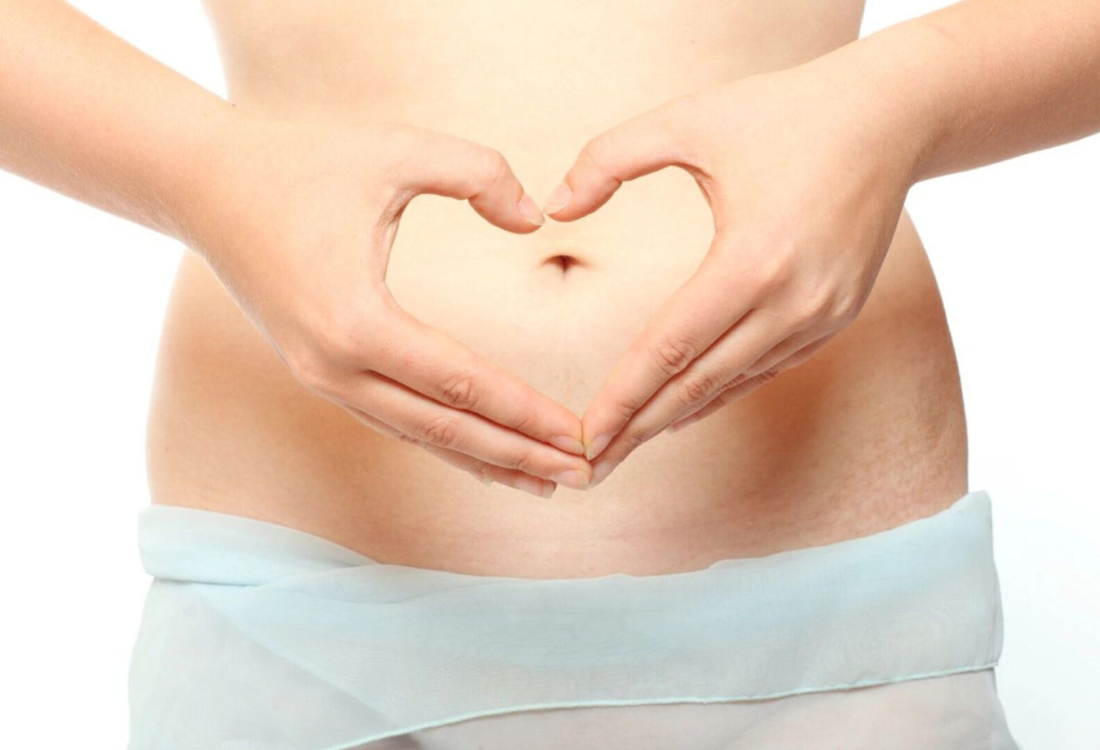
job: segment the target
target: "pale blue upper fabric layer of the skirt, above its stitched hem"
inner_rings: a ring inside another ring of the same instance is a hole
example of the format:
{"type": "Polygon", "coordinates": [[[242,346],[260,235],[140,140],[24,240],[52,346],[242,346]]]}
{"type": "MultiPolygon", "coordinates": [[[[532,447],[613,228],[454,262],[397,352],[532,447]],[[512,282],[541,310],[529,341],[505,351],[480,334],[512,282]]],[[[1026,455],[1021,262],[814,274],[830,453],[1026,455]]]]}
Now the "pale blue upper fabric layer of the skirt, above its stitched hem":
{"type": "Polygon", "coordinates": [[[290,721],[287,736],[299,735],[287,747],[334,750],[518,710],[956,674],[989,669],[1002,647],[982,489],[870,536],[651,576],[394,565],[276,523],[165,505],[140,511],[139,548],[154,581],[131,663],[132,738],[186,731],[196,712],[213,731],[227,706],[239,721],[305,694],[318,699],[309,721],[290,721]],[[228,686],[196,690],[245,649],[228,686]]]}

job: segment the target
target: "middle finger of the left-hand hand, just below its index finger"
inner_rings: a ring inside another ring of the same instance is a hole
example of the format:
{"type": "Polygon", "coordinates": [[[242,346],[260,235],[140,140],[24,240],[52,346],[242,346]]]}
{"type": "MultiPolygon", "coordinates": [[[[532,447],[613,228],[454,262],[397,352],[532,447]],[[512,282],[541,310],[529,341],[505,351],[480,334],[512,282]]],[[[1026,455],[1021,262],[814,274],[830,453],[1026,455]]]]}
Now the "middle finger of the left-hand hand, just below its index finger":
{"type": "Polygon", "coordinates": [[[341,401],[420,443],[576,489],[588,484],[591,467],[583,457],[439,404],[377,373],[356,373],[333,390],[341,401]]]}

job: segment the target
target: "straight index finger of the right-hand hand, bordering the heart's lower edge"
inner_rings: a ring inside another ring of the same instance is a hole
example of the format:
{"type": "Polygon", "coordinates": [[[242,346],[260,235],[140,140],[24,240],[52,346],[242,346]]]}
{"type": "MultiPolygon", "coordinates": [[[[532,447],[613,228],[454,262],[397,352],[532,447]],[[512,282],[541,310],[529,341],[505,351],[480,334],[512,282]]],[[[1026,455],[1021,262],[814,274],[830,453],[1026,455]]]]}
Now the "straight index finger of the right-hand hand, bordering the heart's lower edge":
{"type": "Polygon", "coordinates": [[[653,313],[608,373],[581,419],[586,456],[604,450],[671,377],[688,367],[751,309],[749,295],[730,290],[728,273],[710,257],[653,313]]]}

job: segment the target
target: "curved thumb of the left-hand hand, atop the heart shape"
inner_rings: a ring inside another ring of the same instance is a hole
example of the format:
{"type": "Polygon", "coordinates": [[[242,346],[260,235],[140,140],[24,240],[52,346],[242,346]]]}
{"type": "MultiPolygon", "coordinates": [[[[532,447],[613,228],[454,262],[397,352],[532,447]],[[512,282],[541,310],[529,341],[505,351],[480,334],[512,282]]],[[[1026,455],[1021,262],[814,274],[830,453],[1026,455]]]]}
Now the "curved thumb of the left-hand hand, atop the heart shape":
{"type": "Polygon", "coordinates": [[[406,132],[414,137],[405,146],[399,186],[469,200],[485,220],[512,232],[534,232],[543,223],[542,211],[501,152],[458,135],[419,128],[406,132]]]}

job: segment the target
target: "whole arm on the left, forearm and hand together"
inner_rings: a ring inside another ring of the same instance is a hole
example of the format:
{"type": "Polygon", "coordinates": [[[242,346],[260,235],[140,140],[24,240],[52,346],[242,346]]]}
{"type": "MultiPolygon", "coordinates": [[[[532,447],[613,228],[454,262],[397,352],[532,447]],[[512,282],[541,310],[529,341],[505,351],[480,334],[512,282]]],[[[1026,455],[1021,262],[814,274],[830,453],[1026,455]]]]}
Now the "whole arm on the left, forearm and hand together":
{"type": "Polygon", "coordinates": [[[510,232],[542,223],[499,152],[399,124],[250,117],[63,2],[4,2],[0,22],[0,166],[201,253],[294,376],[370,427],[481,481],[539,495],[556,486],[542,479],[587,483],[574,413],[413,319],[383,284],[417,195],[465,199],[510,232]],[[44,37],[69,55],[42,55],[44,37]],[[262,178],[233,179],[244,169],[262,178]],[[365,267],[362,242],[375,261],[365,267]],[[310,264],[305,246],[342,263],[310,264]],[[270,264],[293,271],[294,283],[270,284],[270,264]]]}

